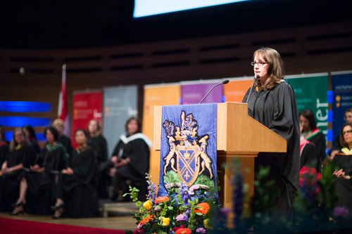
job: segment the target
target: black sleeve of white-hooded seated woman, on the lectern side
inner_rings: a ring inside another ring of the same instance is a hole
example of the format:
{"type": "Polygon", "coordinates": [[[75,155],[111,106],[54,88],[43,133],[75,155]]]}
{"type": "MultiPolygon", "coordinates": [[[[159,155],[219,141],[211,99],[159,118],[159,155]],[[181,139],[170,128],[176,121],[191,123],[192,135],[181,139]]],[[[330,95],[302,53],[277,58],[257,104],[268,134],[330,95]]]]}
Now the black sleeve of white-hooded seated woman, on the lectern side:
{"type": "Polygon", "coordinates": [[[149,146],[142,139],[133,141],[132,154],[129,155],[130,164],[134,171],[141,176],[146,176],[149,171],[149,146]]]}

